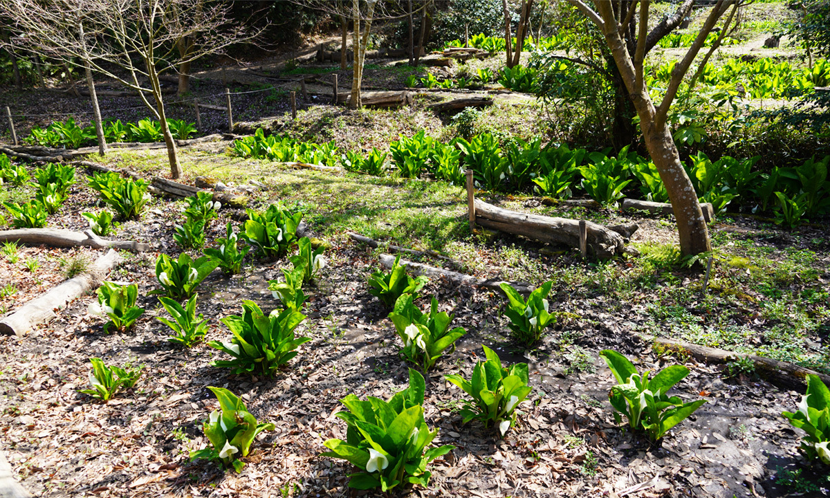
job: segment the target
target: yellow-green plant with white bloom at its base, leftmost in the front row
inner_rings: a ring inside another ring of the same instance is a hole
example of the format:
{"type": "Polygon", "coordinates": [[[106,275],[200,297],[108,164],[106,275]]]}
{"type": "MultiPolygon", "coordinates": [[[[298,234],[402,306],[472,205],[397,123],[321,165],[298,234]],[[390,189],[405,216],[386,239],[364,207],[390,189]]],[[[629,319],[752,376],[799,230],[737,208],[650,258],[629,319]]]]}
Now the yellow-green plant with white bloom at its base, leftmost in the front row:
{"type": "Polygon", "coordinates": [[[237,472],[245,466],[236,457],[247,457],[251,452],[251,444],[262,431],[273,431],[272,423],[257,423],[256,417],[248,412],[242,399],[237,398],[225,388],[208,386],[219,400],[219,410],[213,410],[203,423],[202,430],[211,442],[212,448],[190,452],[190,460],[199,458],[210,461],[221,461],[223,465],[232,466],[237,472]]]}

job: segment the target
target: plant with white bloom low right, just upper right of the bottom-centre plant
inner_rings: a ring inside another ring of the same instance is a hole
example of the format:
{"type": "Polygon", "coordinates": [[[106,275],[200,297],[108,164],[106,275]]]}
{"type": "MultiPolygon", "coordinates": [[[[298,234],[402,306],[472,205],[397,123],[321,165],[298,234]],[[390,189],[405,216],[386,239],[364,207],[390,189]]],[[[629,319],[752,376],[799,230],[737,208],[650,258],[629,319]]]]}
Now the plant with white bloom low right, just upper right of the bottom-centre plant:
{"type": "Polygon", "coordinates": [[[472,402],[466,399],[462,402],[463,423],[481,420],[484,427],[489,427],[493,422],[503,437],[510,427],[515,426],[515,410],[532,390],[528,385],[530,378],[527,364],[503,368],[499,355],[487,346],[482,347],[487,359],[476,363],[471,380],[455,374],[445,375],[444,378],[456,384],[473,399],[472,402]]]}

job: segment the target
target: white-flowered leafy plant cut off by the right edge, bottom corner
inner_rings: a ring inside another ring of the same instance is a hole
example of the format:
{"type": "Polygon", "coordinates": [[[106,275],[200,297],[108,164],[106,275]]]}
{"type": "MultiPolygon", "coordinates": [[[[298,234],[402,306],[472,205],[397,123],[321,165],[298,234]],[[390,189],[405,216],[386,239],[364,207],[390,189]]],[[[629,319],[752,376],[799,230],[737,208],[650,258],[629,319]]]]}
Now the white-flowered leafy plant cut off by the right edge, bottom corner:
{"type": "Polygon", "coordinates": [[[793,427],[807,432],[801,441],[807,457],[830,465],[830,389],[818,375],[807,376],[807,393],[798,403],[798,412],[782,415],[793,427]]]}

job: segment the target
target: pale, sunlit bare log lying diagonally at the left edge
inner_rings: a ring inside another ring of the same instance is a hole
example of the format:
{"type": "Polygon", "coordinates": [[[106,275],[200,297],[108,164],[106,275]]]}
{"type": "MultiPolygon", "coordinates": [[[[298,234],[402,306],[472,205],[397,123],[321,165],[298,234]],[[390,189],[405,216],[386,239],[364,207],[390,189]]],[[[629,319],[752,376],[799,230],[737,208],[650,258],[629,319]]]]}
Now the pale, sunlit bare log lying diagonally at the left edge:
{"type": "Polygon", "coordinates": [[[100,282],[107,273],[120,261],[118,252],[110,249],[104,256],[100,256],[90,267],[68,281],[40,297],[30,300],[17,308],[12,314],[0,320],[0,334],[16,334],[18,337],[26,335],[35,325],[50,322],[56,318],[55,310],[66,307],[85,292],[100,286],[100,282]]]}

